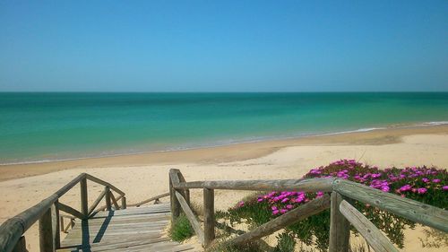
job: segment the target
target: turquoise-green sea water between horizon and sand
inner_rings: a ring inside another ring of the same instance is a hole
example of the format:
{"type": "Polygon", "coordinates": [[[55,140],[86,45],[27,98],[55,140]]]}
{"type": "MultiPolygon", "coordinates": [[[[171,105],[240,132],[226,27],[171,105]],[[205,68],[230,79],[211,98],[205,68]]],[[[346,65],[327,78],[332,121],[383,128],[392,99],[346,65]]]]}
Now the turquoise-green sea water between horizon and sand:
{"type": "Polygon", "coordinates": [[[448,121],[443,93],[0,93],[0,163],[448,121]]]}

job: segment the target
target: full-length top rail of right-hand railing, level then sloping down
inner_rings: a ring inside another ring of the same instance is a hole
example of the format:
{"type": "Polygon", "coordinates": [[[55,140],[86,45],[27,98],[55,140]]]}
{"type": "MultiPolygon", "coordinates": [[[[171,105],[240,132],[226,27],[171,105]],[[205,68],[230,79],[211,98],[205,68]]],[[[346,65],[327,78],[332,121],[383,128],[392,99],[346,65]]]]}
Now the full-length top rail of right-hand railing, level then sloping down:
{"type": "Polygon", "coordinates": [[[448,232],[448,212],[444,209],[385,193],[381,190],[341,178],[193,181],[180,182],[174,184],[173,187],[175,189],[303,190],[306,192],[332,192],[334,190],[343,196],[348,196],[366,204],[372,204],[380,209],[405,217],[412,222],[418,222],[431,228],[448,232]]]}

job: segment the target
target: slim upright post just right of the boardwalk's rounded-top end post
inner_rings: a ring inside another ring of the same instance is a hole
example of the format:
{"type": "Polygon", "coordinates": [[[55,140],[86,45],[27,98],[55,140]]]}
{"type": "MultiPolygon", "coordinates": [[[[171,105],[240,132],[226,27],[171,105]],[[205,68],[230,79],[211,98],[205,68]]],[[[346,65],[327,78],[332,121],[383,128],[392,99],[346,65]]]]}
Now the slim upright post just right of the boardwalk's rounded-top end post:
{"type": "Polygon", "coordinates": [[[203,188],[203,232],[204,247],[207,248],[215,239],[215,202],[214,190],[203,188]]]}

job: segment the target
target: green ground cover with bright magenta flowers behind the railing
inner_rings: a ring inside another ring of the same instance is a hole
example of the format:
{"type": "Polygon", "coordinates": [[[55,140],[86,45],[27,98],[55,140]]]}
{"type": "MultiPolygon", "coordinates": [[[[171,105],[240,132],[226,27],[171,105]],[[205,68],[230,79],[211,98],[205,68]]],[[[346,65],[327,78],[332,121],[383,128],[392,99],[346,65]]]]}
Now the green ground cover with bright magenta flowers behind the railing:
{"type": "MultiPolygon", "coordinates": [[[[426,166],[378,169],[375,166],[354,160],[340,160],[325,167],[311,169],[304,176],[304,178],[330,177],[349,179],[383,192],[444,209],[448,208],[448,173],[446,169],[426,166]]],[[[249,197],[222,215],[228,218],[230,223],[246,222],[251,226],[259,226],[320,196],[323,196],[323,192],[270,192],[249,197]]],[[[403,230],[414,228],[413,222],[357,201],[352,204],[371,222],[374,222],[376,227],[383,230],[393,243],[399,248],[403,248],[403,230]]],[[[306,245],[314,245],[315,248],[322,251],[326,251],[328,248],[329,231],[329,210],[294,223],[286,229],[286,232],[294,239],[299,239],[306,245]]],[[[356,230],[353,231],[356,232],[356,230]]]]}

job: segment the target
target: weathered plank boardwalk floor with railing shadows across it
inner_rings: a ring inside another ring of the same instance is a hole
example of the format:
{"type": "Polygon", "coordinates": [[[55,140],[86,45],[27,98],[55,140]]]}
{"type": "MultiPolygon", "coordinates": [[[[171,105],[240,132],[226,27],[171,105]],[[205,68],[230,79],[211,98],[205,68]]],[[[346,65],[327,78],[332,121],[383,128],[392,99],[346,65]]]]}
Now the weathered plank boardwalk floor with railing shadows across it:
{"type": "Polygon", "coordinates": [[[77,219],[57,251],[193,251],[163,236],[170,216],[169,204],[99,212],[77,219]]]}

